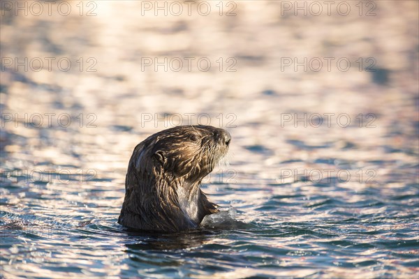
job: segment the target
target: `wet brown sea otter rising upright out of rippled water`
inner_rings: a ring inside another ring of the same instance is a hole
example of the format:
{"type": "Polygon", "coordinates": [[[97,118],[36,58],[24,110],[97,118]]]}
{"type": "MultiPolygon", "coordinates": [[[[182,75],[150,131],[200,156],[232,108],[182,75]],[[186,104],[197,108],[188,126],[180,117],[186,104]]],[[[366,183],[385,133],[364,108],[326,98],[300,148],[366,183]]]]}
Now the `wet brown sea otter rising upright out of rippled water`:
{"type": "Polygon", "coordinates": [[[219,210],[202,190],[202,179],[226,155],[230,134],[212,126],[177,126],[135,146],[125,179],[118,223],[149,232],[198,227],[219,210]]]}

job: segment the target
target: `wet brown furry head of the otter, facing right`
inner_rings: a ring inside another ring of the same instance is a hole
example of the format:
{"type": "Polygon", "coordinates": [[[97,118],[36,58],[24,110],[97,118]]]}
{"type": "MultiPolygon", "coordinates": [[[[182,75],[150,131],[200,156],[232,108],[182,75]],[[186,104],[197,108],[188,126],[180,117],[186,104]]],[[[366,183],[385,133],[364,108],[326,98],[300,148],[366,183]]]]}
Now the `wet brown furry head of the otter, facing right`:
{"type": "Polygon", "coordinates": [[[212,126],[177,126],[156,134],[152,156],[163,172],[196,182],[226,155],[230,134],[212,126]]]}

